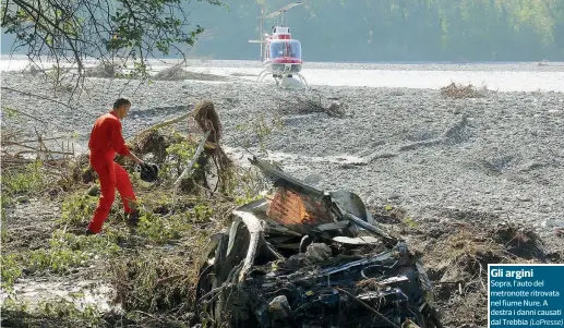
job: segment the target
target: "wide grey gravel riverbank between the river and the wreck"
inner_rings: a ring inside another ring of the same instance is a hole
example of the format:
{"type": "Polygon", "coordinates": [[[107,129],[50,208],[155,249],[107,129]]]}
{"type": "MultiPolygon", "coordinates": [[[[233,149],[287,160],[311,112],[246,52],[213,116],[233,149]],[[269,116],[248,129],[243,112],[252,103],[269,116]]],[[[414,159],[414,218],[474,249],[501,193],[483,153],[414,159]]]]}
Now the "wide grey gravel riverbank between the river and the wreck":
{"type": "MultiPolygon", "coordinates": [[[[2,90],[2,106],[48,122],[46,135],[76,132],[80,151],[95,118],[120,94],[134,102],[123,122],[129,137],[207,98],[219,110],[225,143],[233,154],[243,151],[249,126],[261,116],[265,122],[281,121],[283,127],[264,137],[271,158],[297,178],[316,173],[320,187],[350,190],[369,205],[399,205],[416,220],[515,220],[550,240],[553,227],[564,224],[562,93],[449,99],[429,89],[315,86],[299,92],[235,77],[217,80],[127,85],[88,78],[86,93],[72,110],[9,90],[2,90]],[[338,102],[345,117],[300,113],[288,105],[295,97],[321,99],[324,107],[338,102]],[[245,124],[247,130],[241,129],[245,124]]],[[[4,72],[2,85],[52,96],[45,80],[29,74],[4,72]]],[[[3,116],[3,129],[23,130],[31,137],[34,127],[44,126],[21,116],[3,116]]],[[[259,139],[251,139],[251,150],[259,148],[259,139]]]]}

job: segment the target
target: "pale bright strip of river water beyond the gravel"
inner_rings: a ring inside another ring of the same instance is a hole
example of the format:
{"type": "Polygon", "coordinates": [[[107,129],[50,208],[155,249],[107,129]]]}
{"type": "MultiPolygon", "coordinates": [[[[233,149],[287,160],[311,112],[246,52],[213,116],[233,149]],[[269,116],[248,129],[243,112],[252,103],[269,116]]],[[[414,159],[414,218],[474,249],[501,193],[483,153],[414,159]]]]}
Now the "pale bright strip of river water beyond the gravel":
{"type": "MultiPolygon", "coordinates": [[[[155,71],[169,66],[153,61],[155,71]]],[[[0,71],[24,69],[24,57],[2,56],[0,71]]],[[[94,65],[94,61],[87,65],[94,65]]],[[[51,64],[45,64],[50,68],[51,64]]],[[[188,70],[255,81],[262,71],[256,61],[190,60],[188,70]]],[[[302,75],[311,86],[407,87],[439,89],[452,82],[485,86],[499,92],[564,92],[564,62],[517,63],[308,63],[302,75]]],[[[271,77],[272,78],[272,77],[271,77]]]]}

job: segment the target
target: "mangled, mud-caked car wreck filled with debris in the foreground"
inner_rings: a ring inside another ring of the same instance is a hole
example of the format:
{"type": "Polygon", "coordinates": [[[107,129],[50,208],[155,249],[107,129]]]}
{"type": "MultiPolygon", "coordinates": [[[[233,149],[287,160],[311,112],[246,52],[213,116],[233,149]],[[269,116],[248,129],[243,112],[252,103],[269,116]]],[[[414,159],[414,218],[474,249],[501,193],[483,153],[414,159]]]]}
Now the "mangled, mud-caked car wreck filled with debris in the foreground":
{"type": "Polygon", "coordinates": [[[274,187],[233,210],[202,255],[206,327],[442,327],[421,263],[358,195],[251,163],[274,187]]]}

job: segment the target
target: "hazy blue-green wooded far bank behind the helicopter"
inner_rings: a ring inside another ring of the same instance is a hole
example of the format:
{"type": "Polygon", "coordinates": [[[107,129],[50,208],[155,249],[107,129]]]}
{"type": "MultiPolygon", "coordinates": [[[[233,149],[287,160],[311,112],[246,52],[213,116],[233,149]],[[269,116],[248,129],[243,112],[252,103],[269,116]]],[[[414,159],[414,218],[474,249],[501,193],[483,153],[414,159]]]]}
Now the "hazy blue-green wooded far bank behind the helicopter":
{"type": "MultiPolygon", "coordinates": [[[[193,3],[193,21],[213,28],[196,53],[257,59],[248,40],[259,37],[261,5],[269,13],[289,2],[231,0],[230,11],[193,3]]],[[[564,61],[564,0],[308,2],[287,13],[305,61],[564,61]]]]}

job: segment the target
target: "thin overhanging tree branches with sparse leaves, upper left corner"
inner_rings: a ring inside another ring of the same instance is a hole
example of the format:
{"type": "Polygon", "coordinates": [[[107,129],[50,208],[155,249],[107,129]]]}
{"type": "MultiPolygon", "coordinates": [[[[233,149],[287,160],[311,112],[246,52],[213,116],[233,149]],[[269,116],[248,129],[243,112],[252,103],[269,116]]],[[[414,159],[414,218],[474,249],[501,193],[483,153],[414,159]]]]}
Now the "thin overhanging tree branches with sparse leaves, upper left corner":
{"type": "MultiPolygon", "coordinates": [[[[220,5],[220,0],[197,0],[220,5]]],[[[184,58],[185,47],[203,33],[190,26],[188,0],[2,0],[1,25],[15,35],[12,53],[27,49],[32,63],[56,62],[73,69],[76,86],[84,80],[85,61],[124,68],[130,76],[147,76],[147,59],[171,51],[184,58]]],[[[184,58],[185,59],[185,58],[184,58]]],[[[57,76],[59,78],[59,76],[57,76]]]]}

